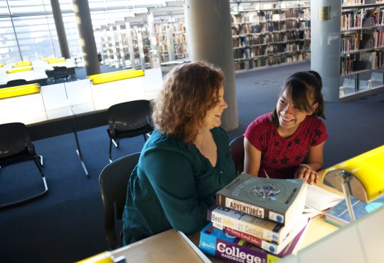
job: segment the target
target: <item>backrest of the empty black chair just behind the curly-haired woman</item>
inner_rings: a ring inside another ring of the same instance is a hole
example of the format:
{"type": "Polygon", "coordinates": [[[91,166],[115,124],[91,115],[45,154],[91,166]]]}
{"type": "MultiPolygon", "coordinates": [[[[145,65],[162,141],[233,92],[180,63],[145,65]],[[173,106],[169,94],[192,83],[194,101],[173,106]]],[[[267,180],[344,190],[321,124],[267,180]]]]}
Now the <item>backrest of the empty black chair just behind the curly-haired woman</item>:
{"type": "Polygon", "coordinates": [[[114,104],[108,109],[110,130],[130,131],[150,126],[151,104],[148,100],[133,100],[114,104]]]}

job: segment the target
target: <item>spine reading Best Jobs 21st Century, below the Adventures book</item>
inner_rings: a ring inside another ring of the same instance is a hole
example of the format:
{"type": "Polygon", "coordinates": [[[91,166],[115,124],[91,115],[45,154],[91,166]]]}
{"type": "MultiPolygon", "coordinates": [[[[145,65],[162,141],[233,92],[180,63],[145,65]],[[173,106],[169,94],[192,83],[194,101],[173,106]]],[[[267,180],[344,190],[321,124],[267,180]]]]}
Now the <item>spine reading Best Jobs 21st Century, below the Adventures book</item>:
{"type": "Polygon", "coordinates": [[[276,242],[279,244],[280,235],[278,232],[273,232],[271,230],[266,230],[263,227],[259,227],[250,222],[244,222],[237,220],[235,218],[230,218],[220,213],[216,213],[213,210],[208,210],[208,220],[212,222],[214,227],[217,227],[220,230],[223,230],[224,227],[230,227],[233,230],[238,230],[244,232],[252,237],[257,237],[268,242],[276,242]]]}

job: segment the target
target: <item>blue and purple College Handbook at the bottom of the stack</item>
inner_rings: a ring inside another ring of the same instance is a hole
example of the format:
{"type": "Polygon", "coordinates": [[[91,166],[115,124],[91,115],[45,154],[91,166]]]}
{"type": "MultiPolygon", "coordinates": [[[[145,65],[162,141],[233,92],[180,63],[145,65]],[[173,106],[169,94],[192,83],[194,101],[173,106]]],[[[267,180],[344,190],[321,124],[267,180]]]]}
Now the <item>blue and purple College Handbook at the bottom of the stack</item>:
{"type": "Polygon", "coordinates": [[[211,223],[200,232],[198,246],[201,251],[231,262],[277,262],[280,257],[252,246],[240,238],[213,227],[211,223]]]}

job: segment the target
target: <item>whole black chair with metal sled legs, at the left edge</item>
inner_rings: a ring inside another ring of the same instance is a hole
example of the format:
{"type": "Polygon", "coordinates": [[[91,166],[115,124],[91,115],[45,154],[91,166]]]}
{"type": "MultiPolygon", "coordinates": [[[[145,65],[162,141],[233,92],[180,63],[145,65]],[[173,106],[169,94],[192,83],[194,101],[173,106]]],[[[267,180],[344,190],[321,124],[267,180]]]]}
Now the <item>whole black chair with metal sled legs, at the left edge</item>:
{"type": "Polygon", "coordinates": [[[24,203],[33,198],[45,195],[48,192],[46,178],[42,169],[43,157],[36,154],[35,147],[32,144],[26,125],[20,122],[0,124],[0,168],[1,166],[6,166],[11,163],[28,160],[33,160],[36,163],[41,178],[43,179],[45,190],[36,195],[29,196],[28,198],[0,205],[0,208],[24,203]]]}

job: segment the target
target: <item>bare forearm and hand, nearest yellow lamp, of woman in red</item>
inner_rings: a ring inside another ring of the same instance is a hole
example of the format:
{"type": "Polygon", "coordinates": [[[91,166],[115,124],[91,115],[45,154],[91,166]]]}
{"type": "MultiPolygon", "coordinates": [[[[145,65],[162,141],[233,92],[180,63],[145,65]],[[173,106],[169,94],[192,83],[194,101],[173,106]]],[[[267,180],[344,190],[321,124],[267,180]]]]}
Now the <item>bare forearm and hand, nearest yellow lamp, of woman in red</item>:
{"type": "Polygon", "coordinates": [[[323,167],[324,144],[325,141],[309,148],[307,161],[297,168],[295,178],[304,178],[304,181],[310,184],[319,183],[319,176],[316,171],[319,171],[323,167]]]}

